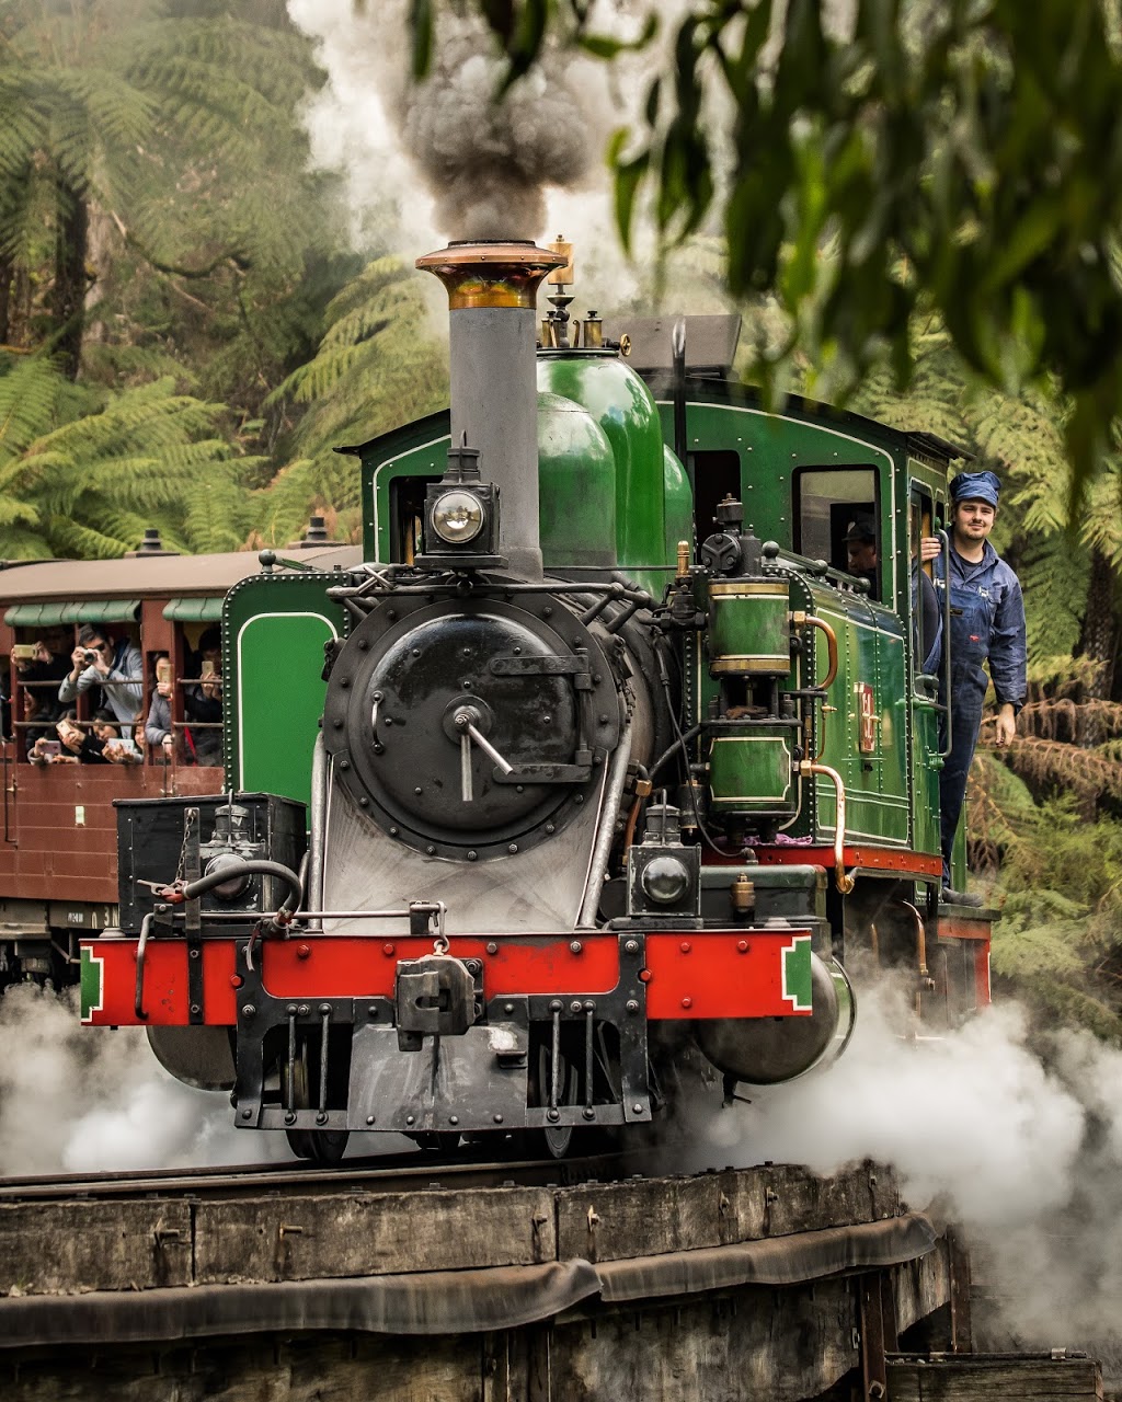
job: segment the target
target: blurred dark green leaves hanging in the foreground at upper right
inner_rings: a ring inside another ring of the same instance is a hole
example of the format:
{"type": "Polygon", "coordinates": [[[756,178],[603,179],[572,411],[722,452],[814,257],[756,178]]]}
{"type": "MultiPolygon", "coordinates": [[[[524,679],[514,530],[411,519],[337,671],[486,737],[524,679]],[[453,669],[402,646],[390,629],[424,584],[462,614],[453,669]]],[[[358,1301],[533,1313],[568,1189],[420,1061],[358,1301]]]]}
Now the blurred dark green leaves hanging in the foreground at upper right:
{"type": "MultiPolygon", "coordinates": [[[[438,8],[414,7],[418,73],[438,8]]],[[[585,0],[475,8],[509,81],[550,25],[579,35],[589,15],[585,0]]],[[[624,241],[648,192],[663,243],[715,207],[734,294],[773,292],[790,318],[785,353],[759,373],[776,383],[798,356],[825,398],[851,394],[885,349],[905,387],[910,322],[930,303],[987,384],[1017,394],[1055,377],[1081,489],[1122,402],[1114,7],[856,0],[851,27],[833,8],[693,0],[641,130],[611,146],[624,241]],[[731,107],[731,133],[710,93],[731,107]]]]}

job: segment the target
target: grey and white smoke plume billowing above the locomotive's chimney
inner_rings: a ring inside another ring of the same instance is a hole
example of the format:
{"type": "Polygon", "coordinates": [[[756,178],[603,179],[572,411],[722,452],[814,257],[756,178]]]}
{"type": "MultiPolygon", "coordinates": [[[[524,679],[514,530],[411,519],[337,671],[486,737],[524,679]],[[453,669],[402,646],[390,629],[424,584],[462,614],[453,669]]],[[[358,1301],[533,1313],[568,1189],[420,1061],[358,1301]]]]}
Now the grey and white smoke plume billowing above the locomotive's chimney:
{"type": "Polygon", "coordinates": [[[351,0],[289,0],[289,14],[316,41],[328,74],[307,114],[314,158],[346,171],[356,207],[384,203],[387,186],[405,196],[403,206],[411,202],[404,154],[440,234],[537,238],[547,229],[547,189],[572,188],[602,168],[621,119],[602,64],[548,42],[496,105],[503,63],[470,7],[442,11],[419,84],[410,77],[407,0],[380,0],[376,15],[356,14],[351,0]]]}

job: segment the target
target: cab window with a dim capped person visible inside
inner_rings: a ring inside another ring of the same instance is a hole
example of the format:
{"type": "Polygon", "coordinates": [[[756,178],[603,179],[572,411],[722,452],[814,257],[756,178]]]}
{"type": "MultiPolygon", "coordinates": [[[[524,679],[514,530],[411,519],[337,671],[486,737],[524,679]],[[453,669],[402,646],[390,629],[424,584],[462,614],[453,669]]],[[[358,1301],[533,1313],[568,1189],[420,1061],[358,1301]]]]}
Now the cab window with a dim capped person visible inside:
{"type": "Polygon", "coordinates": [[[871,467],[801,467],[795,472],[795,550],[868,579],[881,599],[881,512],[871,467]]]}

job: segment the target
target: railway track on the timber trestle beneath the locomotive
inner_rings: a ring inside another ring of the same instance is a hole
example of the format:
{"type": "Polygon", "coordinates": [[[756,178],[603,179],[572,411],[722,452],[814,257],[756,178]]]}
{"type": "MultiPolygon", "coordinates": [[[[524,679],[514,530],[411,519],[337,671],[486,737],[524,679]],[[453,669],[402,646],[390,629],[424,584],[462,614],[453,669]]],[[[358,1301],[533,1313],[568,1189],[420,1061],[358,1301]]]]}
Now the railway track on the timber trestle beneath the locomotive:
{"type": "Polygon", "coordinates": [[[344,1159],[331,1168],[303,1164],[247,1164],[230,1168],[143,1169],[115,1173],[50,1173],[0,1178],[0,1203],[42,1203],[122,1197],[259,1197],[268,1193],[407,1193],[436,1187],[532,1187],[619,1182],[658,1173],[656,1155],[614,1152],[579,1158],[447,1158],[428,1152],[344,1159]]]}

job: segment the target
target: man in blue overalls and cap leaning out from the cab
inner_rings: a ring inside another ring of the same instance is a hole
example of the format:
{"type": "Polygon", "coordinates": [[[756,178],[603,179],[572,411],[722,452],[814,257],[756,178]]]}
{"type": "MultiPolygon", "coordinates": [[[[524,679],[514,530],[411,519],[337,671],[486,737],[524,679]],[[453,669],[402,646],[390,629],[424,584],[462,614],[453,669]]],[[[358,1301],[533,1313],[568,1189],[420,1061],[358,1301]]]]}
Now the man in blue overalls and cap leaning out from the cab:
{"type": "MultiPolygon", "coordinates": [[[[940,805],[942,899],[959,906],[982,904],[979,896],[951,890],[951,848],[989,684],[982,663],[989,662],[997,693],[999,746],[1013,740],[1017,712],[1025,701],[1021,583],[986,538],[997,519],[1000,491],[993,472],[959,472],[951,482],[951,753],[940,774],[940,805]]],[[[928,551],[924,543],[924,557],[928,551]]],[[[935,585],[945,587],[941,557],[935,561],[935,585]]]]}

